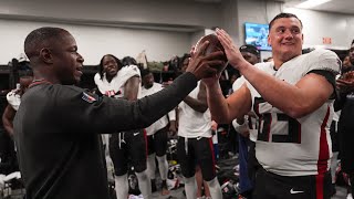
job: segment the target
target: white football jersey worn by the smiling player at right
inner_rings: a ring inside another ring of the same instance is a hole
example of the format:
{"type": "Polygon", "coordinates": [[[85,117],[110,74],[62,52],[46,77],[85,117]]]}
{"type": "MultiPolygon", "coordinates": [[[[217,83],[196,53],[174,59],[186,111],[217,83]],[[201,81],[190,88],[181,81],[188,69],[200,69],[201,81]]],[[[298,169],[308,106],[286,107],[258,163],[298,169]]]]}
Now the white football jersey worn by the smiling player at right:
{"type": "MultiPolygon", "coordinates": [[[[272,62],[257,65],[294,85],[311,71],[330,71],[336,75],[341,63],[334,52],[314,50],[283,63],[278,71],[272,62]]],[[[334,114],[333,101],[327,100],[311,114],[295,119],[262,100],[249,82],[247,86],[252,95],[252,111],[259,117],[256,156],[263,168],[281,176],[326,172],[332,156],[330,126],[334,114]]]]}

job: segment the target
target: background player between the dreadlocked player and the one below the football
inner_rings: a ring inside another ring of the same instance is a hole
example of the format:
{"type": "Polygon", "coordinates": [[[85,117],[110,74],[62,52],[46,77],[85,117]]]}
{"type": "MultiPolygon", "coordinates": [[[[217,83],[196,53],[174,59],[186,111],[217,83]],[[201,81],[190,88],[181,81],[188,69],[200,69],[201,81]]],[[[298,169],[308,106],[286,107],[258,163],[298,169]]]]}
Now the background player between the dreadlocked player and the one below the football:
{"type": "MultiPolygon", "coordinates": [[[[156,83],[154,80],[154,74],[148,69],[140,70],[142,72],[142,92],[139,98],[152,95],[158,91],[162,91],[164,86],[159,83],[156,83]]],[[[168,115],[156,121],[154,124],[145,128],[147,135],[147,174],[152,180],[152,190],[156,191],[155,184],[155,171],[156,163],[155,157],[158,163],[158,170],[162,177],[162,195],[166,196],[169,193],[167,187],[167,174],[168,174],[168,163],[166,158],[167,150],[167,138],[168,132],[176,133],[176,111],[173,109],[168,115]]]]}

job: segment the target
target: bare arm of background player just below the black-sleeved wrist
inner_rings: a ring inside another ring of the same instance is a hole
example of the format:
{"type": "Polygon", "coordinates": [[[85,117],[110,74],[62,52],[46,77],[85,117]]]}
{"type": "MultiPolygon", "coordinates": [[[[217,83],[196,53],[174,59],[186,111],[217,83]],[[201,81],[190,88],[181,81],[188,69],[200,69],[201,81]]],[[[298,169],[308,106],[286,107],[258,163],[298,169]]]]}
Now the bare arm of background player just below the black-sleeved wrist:
{"type": "Polygon", "coordinates": [[[197,98],[192,98],[190,96],[187,96],[184,102],[190,106],[194,111],[199,113],[205,113],[208,109],[208,103],[207,103],[207,91],[206,85],[200,82],[199,84],[199,93],[197,95],[197,98]]]}

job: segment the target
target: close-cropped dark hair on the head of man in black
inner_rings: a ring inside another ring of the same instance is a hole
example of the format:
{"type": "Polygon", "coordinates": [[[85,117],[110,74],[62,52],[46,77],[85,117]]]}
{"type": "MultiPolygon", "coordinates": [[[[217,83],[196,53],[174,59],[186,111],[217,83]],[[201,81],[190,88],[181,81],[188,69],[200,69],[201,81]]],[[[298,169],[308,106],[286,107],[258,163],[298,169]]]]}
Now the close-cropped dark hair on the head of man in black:
{"type": "Polygon", "coordinates": [[[24,40],[25,55],[31,60],[40,54],[41,49],[45,48],[50,40],[61,38],[62,33],[67,33],[61,28],[43,27],[33,30],[24,40]]]}

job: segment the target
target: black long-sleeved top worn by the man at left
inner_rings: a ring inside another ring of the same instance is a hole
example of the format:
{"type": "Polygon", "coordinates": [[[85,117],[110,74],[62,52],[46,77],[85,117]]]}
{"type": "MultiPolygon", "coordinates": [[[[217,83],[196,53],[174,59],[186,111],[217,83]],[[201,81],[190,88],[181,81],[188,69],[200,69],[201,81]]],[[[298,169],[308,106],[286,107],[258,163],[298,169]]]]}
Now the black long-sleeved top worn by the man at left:
{"type": "Polygon", "coordinates": [[[14,118],[27,198],[107,199],[98,133],[149,126],[196,85],[196,77],[185,73],[162,92],[136,102],[48,82],[31,86],[14,118]]]}

